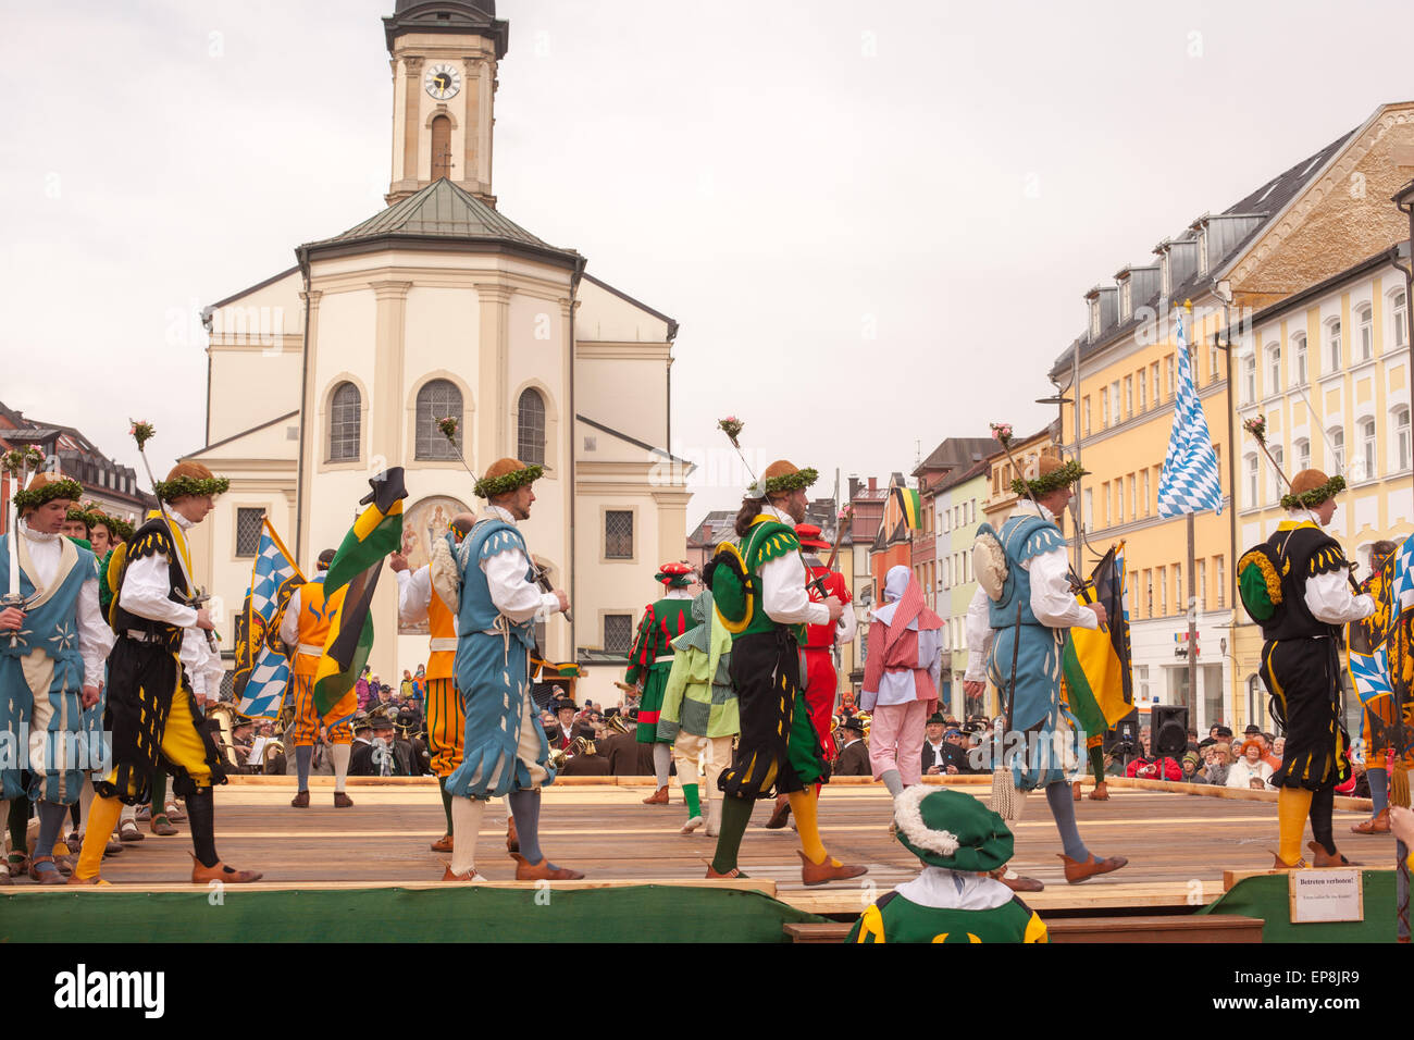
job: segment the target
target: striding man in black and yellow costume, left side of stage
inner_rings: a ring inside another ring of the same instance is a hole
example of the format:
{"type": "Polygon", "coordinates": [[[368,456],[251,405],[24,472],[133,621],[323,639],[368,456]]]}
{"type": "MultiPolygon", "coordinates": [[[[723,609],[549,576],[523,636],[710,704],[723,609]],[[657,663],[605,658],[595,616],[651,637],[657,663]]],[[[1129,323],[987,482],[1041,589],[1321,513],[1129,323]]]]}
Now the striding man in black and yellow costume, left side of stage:
{"type": "Polygon", "coordinates": [[[260,879],[233,870],[216,856],[212,785],[223,784],[211,732],[198,696],[215,693],[221,657],[208,635],[211,614],[191,606],[194,589],[187,531],[212,509],[228,481],[199,463],[181,463],[156,487],[170,512],[148,514],[109,567],[116,594],[109,621],[117,644],[109,657],[105,729],[113,734],[113,768],[95,784],[83,850],[69,884],[102,884],[99,863],[122,805],[148,797],[161,764],[173,790],[187,798],[194,852],[194,883],[260,879]],[[116,570],[116,573],[113,573],[116,570]]]}

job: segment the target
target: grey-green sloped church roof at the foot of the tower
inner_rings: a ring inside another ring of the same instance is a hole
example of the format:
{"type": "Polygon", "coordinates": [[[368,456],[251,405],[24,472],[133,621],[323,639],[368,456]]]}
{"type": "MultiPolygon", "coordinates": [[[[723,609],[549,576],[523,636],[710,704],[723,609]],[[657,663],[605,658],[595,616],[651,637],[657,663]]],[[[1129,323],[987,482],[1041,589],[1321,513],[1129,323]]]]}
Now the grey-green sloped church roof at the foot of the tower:
{"type": "Polygon", "coordinates": [[[341,235],[300,246],[300,253],[304,256],[311,249],[322,252],[327,248],[369,242],[389,245],[420,242],[443,246],[468,242],[501,243],[536,253],[542,259],[570,262],[580,269],[584,265],[584,258],[573,249],[560,249],[536,238],[447,178],[433,181],[341,235]]]}

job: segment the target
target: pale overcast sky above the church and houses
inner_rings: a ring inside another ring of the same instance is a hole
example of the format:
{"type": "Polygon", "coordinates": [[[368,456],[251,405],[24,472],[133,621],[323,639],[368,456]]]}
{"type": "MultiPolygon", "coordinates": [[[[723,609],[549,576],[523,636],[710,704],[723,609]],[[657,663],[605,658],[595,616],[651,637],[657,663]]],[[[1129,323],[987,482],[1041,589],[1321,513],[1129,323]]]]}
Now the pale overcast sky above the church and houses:
{"type": "MultiPolygon", "coordinates": [[[[0,400],[127,463],[130,416],[199,447],[199,308],[383,207],[392,8],[0,0],[0,400]]],[[[826,492],[1052,419],[1086,289],[1414,95],[1406,1],[498,16],[501,211],[682,323],[674,451],[735,413],[826,492]]]]}

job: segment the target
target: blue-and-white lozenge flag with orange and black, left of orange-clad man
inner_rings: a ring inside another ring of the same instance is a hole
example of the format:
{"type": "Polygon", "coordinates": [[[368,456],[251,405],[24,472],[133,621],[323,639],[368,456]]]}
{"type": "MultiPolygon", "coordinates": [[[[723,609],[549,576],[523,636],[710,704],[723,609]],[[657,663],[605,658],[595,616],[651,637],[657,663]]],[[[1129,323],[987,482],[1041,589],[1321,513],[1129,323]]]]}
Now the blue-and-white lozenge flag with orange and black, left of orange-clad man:
{"type": "Polygon", "coordinates": [[[304,574],[284,542],[260,521],[260,548],[250,570],[246,606],[236,617],[236,669],[233,691],[238,709],[252,719],[279,719],[290,685],[290,659],[279,648],[280,618],[290,594],[304,584],[304,574]]]}

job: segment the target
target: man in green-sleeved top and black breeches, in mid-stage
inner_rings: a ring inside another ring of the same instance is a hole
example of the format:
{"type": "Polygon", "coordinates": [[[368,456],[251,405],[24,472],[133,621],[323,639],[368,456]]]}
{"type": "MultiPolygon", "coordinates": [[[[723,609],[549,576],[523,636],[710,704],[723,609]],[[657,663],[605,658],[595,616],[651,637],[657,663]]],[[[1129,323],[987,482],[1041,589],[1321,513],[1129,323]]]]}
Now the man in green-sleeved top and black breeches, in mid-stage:
{"type": "Polygon", "coordinates": [[[732,632],[731,685],[737,689],[741,737],[717,785],[725,799],[721,835],[707,877],[740,877],[737,852],[758,798],[790,799],[800,835],[806,884],[858,877],[863,866],[831,859],[820,840],[813,784],[829,780],[820,739],[800,689],[803,625],[834,624],[844,606],[834,596],[812,603],[795,525],[805,519],[814,470],[781,460],[766,467],[737,514],[740,548],[723,546],[713,560],[711,589],[732,632]]]}

